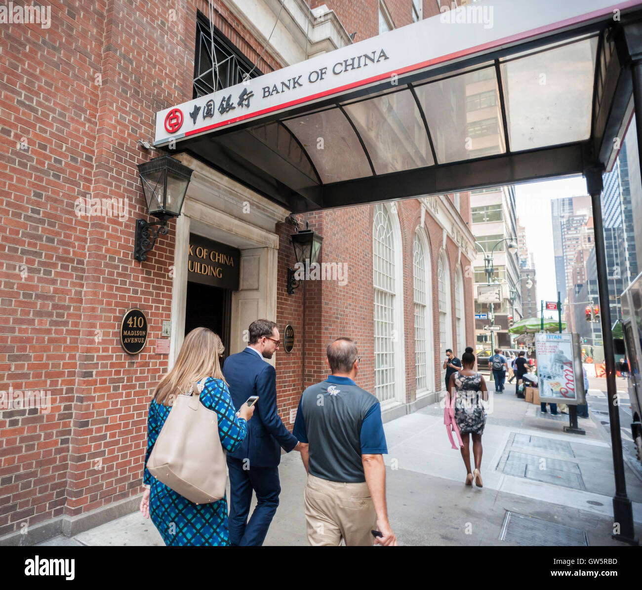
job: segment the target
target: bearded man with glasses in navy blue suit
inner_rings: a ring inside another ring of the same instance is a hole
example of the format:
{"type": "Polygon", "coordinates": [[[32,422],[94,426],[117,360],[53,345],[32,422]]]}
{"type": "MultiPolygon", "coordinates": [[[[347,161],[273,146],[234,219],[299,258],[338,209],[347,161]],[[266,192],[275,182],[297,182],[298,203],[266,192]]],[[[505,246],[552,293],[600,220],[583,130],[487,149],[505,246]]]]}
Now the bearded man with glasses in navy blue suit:
{"type": "Polygon", "coordinates": [[[277,373],[264,358],[272,358],[279,348],[279,331],[270,320],[250,324],[249,345],[230,355],[223,364],[223,376],[238,410],[250,397],[258,395],[254,419],[248,422],[247,436],[233,453],[227,453],[230,475],[230,543],[261,546],[272,517],[279,506],[281,447],[287,453],[300,451],[297,438],[290,434],[277,412],[277,373]],[[250,513],[252,490],[257,505],[250,513]]]}

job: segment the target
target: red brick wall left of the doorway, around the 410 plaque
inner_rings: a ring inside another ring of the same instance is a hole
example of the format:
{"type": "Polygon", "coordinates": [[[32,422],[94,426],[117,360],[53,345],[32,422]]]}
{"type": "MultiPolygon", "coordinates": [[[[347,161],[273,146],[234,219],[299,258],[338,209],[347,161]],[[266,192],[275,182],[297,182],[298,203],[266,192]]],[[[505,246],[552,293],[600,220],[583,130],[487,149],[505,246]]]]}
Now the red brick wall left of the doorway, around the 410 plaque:
{"type": "MultiPolygon", "coordinates": [[[[174,222],[148,261],[132,260],[145,217],[136,165],[156,155],[137,141],[153,137],[157,110],[191,98],[196,9],[207,14],[201,0],[175,19],[160,1],[51,6],[51,28],[0,35],[0,372],[3,390],[46,389],[52,403],[0,415],[0,535],[139,492],[146,408],[167,365],[153,341],[170,317],[174,222]],[[87,195],[126,200],[128,216],[78,218],[87,195]],[[150,334],[130,358],[118,333],[134,306],[150,334]]],[[[256,61],[261,44],[222,4],[214,24],[256,61]]],[[[265,52],[259,68],[277,67],[265,52]]]]}

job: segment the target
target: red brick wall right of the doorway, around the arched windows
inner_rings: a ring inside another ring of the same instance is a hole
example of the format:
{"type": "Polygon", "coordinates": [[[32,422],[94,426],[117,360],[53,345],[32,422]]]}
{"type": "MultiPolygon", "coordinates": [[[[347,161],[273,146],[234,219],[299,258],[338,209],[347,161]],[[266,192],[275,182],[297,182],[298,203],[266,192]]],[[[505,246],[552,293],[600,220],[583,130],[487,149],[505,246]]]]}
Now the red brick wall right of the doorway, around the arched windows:
{"type": "MultiPolygon", "coordinates": [[[[470,218],[468,193],[461,195],[462,211],[470,218]]],[[[279,329],[286,324],[295,328],[297,346],[288,354],[280,351],[277,354],[276,368],[279,376],[279,412],[284,422],[289,424],[290,411],[299,404],[303,388],[323,381],[328,374],[325,364],[325,347],[338,336],[348,336],[356,340],[361,356],[358,383],[361,387],[374,392],[374,288],[372,278],[372,216],[374,207],[351,207],[336,209],[305,216],[310,221],[310,229],[324,237],[320,261],[325,263],[343,263],[348,265],[348,282],[340,286],[338,281],[307,281],[295,290],[294,295],[287,295],[286,269],[294,263],[294,254],[289,243],[290,234],[295,232],[291,225],[279,224],[281,236],[279,250],[279,295],[277,299],[277,322],[279,329]],[[302,300],[305,298],[305,309],[302,300]],[[301,318],[300,314],[305,317],[301,318]],[[304,329],[299,330],[299,325],[304,329]],[[300,336],[299,336],[300,334],[300,336]],[[305,350],[303,351],[303,347],[305,350]],[[302,375],[302,377],[301,377],[302,375]]],[[[406,403],[415,399],[415,332],[413,300],[413,258],[412,245],[415,231],[421,223],[421,206],[415,199],[397,203],[401,229],[401,248],[403,252],[403,286],[398,296],[403,296],[404,328],[404,374],[406,403]]],[[[304,220],[299,216],[299,221],[304,220]]],[[[442,228],[433,218],[426,214],[424,232],[429,243],[431,258],[431,288],[433,303],[433,372],[435,383],[440,388],[440,367],[442,355],[439,351],[437,264],[442,247],[442,228]]],[[[464,277],[464,306],[466,317],[466,340],[460,346],[456,342],[455,324],[455,268],[457,265],[458,246],[446,239],[446,254],[450,270],[450,302],[453,342],[446,343],[461,354],[464,347],[474,347],[473,321],[473,280],[468,278],[467,266],[470,265],[462,255],[460,268],[464,277]]]]}

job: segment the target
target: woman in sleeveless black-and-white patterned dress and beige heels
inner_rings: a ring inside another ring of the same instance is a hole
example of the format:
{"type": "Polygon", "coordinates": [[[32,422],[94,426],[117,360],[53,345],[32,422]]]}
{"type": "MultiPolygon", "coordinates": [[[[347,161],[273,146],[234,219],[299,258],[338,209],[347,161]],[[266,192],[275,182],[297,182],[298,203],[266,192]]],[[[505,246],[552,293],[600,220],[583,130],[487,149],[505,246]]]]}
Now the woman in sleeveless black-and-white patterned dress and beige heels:
{"type": "Polygon", "coordinates": [[[483,401],[488,399],[488,388],[482,374],[473,367],[475,356],[472,352],[462,354],[462,369],[453,373],[448,386],[449,401],[455,397],[455,422],[460,431],[464,446],[461,449],[466,467],[466,485],[483,487],[482,474],[482,435],[486,425],[486,412],[483,401]],[[473,455],[475,468],[471,470],[469,435],[473,436],[473,455]]]}

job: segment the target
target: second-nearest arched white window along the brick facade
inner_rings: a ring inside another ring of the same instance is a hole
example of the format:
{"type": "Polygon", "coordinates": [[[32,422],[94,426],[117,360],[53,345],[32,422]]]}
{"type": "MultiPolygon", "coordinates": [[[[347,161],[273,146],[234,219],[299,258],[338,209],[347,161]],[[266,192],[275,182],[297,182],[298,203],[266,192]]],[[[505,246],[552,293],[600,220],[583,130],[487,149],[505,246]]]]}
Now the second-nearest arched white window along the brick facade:
{"type": "Polygon", "coordinates": [[[435,390],[435,352],[431,301],[430,252],[421,229],[412,244],[415,311],[415,390],[417,395],[435,390]]]}

